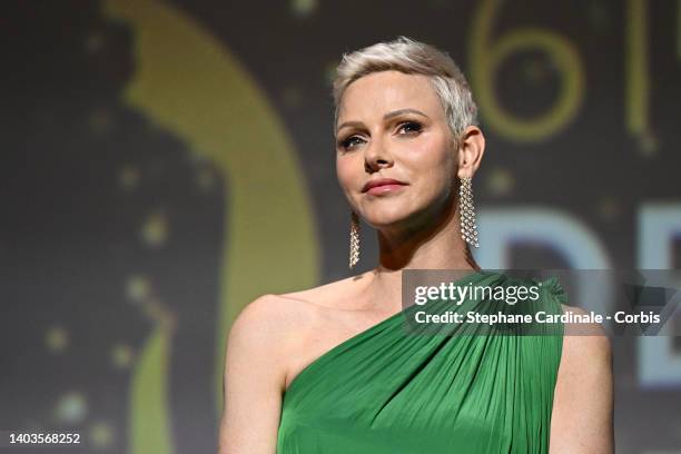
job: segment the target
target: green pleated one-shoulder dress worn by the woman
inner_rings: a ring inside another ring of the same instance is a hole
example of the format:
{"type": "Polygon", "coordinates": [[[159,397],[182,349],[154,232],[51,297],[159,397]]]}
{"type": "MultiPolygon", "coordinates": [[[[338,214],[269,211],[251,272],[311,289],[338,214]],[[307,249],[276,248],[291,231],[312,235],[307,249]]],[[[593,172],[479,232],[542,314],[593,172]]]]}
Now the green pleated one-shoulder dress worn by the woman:
{"type": "MultiPolygon", "coordinates": [[[[456,282],[467,284],[519,283],[474,272],[456,282]]],[[[565,295],[555,278],[524,284],[540,286],[539,299],[468,298],[443,310],[562,313],[565,295]]],[[[294,378],[283,396],[278,454],[549,452],[563,325],[535,324],[531,335],[503,324],[408,334],[406,316],[422,308],[412,305],[373,325],[294,378]]]]}

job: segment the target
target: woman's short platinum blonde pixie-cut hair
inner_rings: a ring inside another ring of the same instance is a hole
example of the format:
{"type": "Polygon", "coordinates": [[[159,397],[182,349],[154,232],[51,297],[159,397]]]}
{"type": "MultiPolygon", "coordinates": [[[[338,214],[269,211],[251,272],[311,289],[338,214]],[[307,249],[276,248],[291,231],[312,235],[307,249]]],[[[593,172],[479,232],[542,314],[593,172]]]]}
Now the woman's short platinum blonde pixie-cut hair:
{"type": "Polygon", "coordinates": [[[466,78],[452,58],[433,46],[401,36],[389,42],[344,53],[334,80],[334,131],[343,93],[355,80],[372,72],[395,70],[428,76],[457,140],[470,125],[477,126],[477,106],[466,78]]]}

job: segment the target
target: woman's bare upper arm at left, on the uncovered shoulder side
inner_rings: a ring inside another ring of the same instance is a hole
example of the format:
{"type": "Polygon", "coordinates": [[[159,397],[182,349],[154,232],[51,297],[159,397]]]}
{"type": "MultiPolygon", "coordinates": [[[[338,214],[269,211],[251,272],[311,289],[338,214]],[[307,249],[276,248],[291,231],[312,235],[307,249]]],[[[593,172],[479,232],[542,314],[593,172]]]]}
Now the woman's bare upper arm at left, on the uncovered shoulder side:
{"type": "Polygon", "coordinates": [[[246,306],[234,322],[225,356],[225,402],[218,454],[274,454],[285,382],[283,325],[274,295],[246,306]]]}

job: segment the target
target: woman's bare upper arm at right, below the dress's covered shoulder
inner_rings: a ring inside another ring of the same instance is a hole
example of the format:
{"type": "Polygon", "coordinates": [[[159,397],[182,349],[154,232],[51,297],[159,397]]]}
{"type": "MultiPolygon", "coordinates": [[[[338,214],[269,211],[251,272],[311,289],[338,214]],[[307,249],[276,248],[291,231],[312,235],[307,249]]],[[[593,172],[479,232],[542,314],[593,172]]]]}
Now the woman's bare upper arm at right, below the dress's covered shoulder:
{"type": "MultiPolygon", "coordinates": [[[[571,308],[574,313],[584,312],[571,308]]],[[[611,454],[613,383],[610,339],[600,325],[566,328],[551,416],[551,454],[611,454]],[[589,330],[591,335],[584,335],[589,330]],[[571,334],[572,333],[572,334],[571,334]]]]}

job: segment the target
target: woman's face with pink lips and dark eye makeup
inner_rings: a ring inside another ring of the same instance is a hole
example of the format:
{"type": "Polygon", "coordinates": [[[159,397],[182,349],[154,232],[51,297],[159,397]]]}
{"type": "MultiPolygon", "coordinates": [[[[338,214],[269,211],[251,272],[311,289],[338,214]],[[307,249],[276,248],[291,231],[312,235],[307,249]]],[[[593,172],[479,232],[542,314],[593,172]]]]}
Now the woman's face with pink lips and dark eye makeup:
{"type": "Polygon", "coordinates": [[[375,228],[418,228],[452,201],[457,150],[427,77],[382,71],[351,83],[336,125],[336,172],[355,211],[375,228]],[[369,182],[402,185],[366,190],[369,182]]]}

